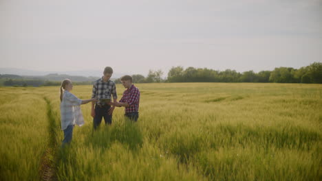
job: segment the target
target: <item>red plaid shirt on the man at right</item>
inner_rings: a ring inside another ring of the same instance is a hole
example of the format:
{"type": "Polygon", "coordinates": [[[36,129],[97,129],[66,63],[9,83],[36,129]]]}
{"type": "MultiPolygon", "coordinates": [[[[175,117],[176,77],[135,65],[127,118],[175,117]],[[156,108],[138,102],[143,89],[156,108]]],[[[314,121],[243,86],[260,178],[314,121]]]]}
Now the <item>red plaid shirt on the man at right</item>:
{"type": "Polygon", "coordinates": [[[129,108],[125,108],[125,113],[138,112],[140,90],[138,90],[138,88],[132,84],[130,88],[127,88],[127,90],[124,91],[120,102],[127,102],[129,104],[129,108]]]}

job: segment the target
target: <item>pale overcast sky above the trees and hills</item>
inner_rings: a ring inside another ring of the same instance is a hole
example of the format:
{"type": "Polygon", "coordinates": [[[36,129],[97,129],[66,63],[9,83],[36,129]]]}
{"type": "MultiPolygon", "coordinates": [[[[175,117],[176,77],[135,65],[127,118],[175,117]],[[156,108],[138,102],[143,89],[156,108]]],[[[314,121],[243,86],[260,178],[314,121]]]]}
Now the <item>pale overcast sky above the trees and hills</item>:
{"type": "Polygon", "coordinates": [[[0,0],[0,67],[141,73],[322,62],[322,0],[0,0]]]}

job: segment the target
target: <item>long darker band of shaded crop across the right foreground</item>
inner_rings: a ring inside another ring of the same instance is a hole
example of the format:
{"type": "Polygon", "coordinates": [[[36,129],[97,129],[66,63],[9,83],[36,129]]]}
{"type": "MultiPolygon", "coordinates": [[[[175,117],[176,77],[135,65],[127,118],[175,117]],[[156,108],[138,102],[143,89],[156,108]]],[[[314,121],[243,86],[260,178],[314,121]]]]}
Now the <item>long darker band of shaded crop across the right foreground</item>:
{"type": "Polygon", "coordinates": [[[182,163],[187,163],[196,154],[205,150],[219,150],[234,147],[246,148],[255,145],[257,149],[270,152],[274,149],[295,149],[309,151],[321,141],[317,132],[297,126],[250,127],[243,124],[220,124],[194,130],[179,130],[163,136],[159,143],[164,152],[169,152],[182,163]]]}

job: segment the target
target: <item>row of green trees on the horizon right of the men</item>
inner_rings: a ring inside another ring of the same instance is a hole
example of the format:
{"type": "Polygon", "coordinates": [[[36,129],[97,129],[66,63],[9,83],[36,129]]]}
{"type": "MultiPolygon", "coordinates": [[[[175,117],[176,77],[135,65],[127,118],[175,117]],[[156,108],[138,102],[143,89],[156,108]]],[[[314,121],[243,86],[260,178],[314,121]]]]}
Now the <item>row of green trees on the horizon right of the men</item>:
{"type": "MultiPolygon", "coordinates": [[[[235,70],[226,69],[216,71],[213,69],[196,69],[194,67],[172,67],[167,79],[162,79],[161,70],[150,70],[147,77],[136,74],[132,75],[135,83],[151,82],[276,82],[276,83],[304,83],[322,84],[322,62],[314,62],[307,67],[293,69],[291,67],[279,67],[273,71],[245,71],[239,73],[235,70]]],[[[116,80],[120,83],[120,80],[116,80]]]]}

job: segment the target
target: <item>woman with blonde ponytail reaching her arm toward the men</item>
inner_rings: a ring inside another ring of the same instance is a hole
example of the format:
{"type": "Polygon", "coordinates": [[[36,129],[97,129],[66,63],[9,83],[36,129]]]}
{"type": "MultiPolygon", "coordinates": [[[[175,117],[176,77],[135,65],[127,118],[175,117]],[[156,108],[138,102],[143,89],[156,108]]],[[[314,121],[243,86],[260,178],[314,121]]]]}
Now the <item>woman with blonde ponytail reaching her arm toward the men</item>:
{"type": "Polygon", "coordinates": [[[73,89],[72,81],[65,79],[61,82],[61,130],[64,131],[63,145],[72,141],[74,125],[84,124],[81,104],[87,104],[96,99],[82,100],[70,93],[73,89]]]}

